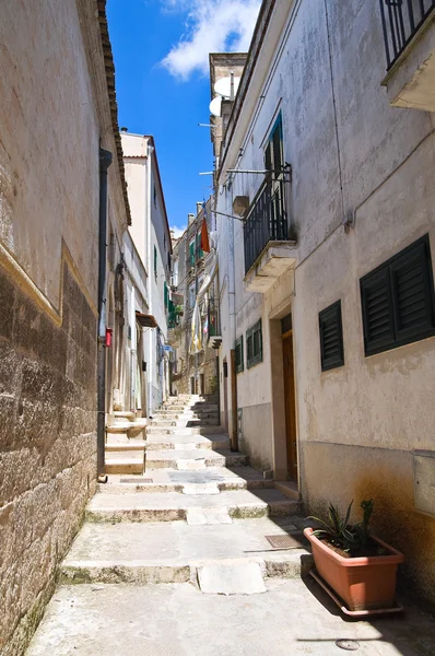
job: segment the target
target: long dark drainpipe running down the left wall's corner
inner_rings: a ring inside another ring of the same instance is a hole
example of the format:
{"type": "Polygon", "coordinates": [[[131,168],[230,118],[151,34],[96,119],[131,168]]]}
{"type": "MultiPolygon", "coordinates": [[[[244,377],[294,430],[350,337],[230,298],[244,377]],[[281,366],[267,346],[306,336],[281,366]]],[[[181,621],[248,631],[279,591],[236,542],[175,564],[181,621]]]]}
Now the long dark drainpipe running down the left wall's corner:
{"type": "Polygon", "coordinates": [[[97,353],[97,476],[106,482],[104,448],[106,437],[106,261],[107,261],[107,169],[111,153],[99,149],[98,220],[98,353],[97,353]]]}

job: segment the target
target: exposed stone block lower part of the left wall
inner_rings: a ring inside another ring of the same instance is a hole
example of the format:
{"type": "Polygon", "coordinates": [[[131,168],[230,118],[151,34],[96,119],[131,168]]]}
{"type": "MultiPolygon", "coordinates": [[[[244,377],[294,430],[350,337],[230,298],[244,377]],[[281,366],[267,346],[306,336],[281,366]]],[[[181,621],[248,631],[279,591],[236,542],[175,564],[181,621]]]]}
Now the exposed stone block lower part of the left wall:
{"type": "Polygon", "coordinates": [[[96,316],[64,263],[61,325],[0,267],[0,653],[24,654],[96,480],[96,316]]]}

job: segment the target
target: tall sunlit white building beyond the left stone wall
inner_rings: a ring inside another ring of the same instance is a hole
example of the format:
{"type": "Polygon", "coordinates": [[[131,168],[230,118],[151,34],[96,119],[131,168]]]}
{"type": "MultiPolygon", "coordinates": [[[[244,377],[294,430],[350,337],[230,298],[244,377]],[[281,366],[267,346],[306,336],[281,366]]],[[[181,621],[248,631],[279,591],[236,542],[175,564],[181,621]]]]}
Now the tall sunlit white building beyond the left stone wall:
{"type": "MultiPolygon", "coordinates": [[[[131,391],[131,398],[136,399],[136,409],[138,403],[146,406],[146,415],[150,417],[169,394],[168,353],[165,347],[171,284],[171,234],[153,138],[122,132],[121,140],[131,203],[129,233],[148,276],[146,307],[140,305],[141,294],[138,294],[138,288],[130,290],[131,319],[128,329],[131,344],[137,347],[136,352],[131,349],[131,356],[138,371],[138,380],[146,380],[146,389],[139,390],[137,387],[131,391]],[[133,308],[137,321],[133,321],[133,308]],[[152,316],[155,327],[151,327],[140,314],[152,316]],[[141,373],[146,375],[142,376],[141,373]]],[[[145,415],[144,407],[142,414],[145,415]]]]}

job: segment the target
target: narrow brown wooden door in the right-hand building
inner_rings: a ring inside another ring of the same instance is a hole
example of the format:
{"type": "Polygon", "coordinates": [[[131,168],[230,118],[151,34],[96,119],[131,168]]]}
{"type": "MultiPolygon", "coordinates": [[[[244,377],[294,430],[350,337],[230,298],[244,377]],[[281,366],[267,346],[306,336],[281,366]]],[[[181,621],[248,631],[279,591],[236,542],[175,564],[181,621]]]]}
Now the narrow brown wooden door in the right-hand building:
{"type": "Polygon", "coordinates": [[[294,386],[293,335],[292,331],[282,338],[282,355],[284,365],[285,396],[285,432],[287,446],[289,478],[297,481],[297,444],[296,444],[296,399],[294,386]]]}

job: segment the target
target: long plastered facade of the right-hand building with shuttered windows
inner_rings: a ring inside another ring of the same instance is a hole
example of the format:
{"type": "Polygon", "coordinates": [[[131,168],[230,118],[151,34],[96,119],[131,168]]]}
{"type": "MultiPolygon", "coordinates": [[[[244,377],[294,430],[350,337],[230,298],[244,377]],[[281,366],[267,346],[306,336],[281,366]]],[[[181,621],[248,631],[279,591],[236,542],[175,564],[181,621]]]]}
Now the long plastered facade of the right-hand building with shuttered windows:
{"type": "Polygon", "coordinates": [[[392,59],[387,10],[262,4],[216,171],[221,417],[307,511],[374,499],[435,600],[435,25],[392,59]]]}

